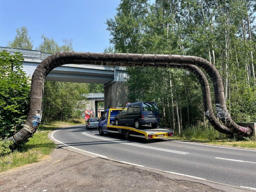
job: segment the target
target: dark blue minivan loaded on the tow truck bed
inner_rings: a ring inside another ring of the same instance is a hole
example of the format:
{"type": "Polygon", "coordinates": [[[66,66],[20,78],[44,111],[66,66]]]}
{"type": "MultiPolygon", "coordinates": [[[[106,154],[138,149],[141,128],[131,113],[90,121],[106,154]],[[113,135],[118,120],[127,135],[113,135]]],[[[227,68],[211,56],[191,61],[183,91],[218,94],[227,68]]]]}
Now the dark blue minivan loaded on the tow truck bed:
{"type": "Polygon", "coordinates": [[[114,118],[115,125],[134,125],[136,129],[145,124],[151,124],[153,128],[157,128],[159,122],[160,115],[156,102],[131,103],[114,118]]]}

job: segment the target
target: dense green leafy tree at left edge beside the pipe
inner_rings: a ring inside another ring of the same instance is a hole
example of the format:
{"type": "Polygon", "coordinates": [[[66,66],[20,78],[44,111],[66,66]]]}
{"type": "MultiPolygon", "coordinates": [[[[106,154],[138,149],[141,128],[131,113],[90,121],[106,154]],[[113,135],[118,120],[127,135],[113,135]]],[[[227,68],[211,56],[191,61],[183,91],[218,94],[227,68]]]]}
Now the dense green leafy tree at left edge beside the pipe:
{"type": "Polygon", "coordinates": [[[0,52],[0,135],[10,136],[22,128],[29,109],[30,86],[22,68],[21,54],[0,52]]]}

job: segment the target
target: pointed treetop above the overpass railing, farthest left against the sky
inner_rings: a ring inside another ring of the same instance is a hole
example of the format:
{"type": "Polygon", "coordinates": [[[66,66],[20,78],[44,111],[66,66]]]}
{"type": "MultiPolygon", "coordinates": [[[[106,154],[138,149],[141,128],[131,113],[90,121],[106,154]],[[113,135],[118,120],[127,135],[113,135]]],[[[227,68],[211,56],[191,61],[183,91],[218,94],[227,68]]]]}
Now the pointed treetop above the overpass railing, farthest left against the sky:
{"type": "Polygon", "coordinates": [[[17,34],[13,41],[9,41],[7,47],[18,48],[18,49],[32,49],[33,41],[28,35],[28,29],[25,26],[16,29],[17,34]]]}

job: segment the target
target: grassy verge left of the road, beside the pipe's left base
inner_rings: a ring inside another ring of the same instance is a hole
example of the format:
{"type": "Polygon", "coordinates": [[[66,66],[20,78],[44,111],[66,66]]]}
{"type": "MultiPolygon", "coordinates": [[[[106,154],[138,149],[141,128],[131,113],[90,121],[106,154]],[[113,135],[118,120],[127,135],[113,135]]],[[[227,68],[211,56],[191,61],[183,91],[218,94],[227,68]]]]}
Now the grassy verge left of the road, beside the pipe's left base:
{"type": "MultiPolygon", "coordinates": [[[[81,120],[83,121],[83,120],[81,120]]],[[[14,167],[20,167],[26,164],[35,163],[41,159],[47,158],[56,145],[48,138],[48,133],[63,126],[72,126],[84,124],[83,122],[54,122],[50,125],[39,126],[39,131],[29,138],[29,142],[19,146],[14,152],[0,157],[0,172],[14,167]]]]}

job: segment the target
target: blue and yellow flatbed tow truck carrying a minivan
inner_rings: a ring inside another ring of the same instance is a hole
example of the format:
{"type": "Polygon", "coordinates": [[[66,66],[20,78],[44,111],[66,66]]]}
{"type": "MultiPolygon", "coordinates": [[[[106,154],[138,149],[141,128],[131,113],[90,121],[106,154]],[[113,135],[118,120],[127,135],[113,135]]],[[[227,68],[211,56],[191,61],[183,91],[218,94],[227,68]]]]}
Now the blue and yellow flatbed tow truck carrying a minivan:
{"type": "Polygon", "coordinates": [[[119,114],[122,109],[123,108],[109,108],[104,111],[98,124],[100,135],[104,133],[119,133],[123,134],[125,139],[129,139],[130,136],[141,137],[143,139],[160,139],[174,136],[172,129],[160,126],[157,126],[157,128],[142,126],[140,129],[136,129],[130,126],[114,125],[114,117],[119,114]]]}

